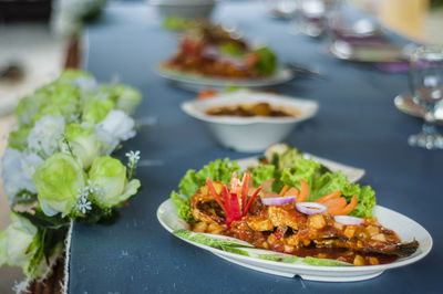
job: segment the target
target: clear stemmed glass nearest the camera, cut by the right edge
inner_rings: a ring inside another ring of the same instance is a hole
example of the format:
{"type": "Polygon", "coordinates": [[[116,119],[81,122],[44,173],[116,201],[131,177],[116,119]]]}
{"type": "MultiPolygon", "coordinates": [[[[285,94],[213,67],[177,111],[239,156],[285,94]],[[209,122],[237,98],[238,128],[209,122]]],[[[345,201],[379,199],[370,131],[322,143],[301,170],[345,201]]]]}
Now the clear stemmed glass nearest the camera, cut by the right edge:
{"type": "Polygon", "coordinates": [[[412,52],[410,84],[414,102],[423,107],[425,114],[422,132],[411,135],[409,145],[443,149],[443,136],[435,127],[435,111],[443,99],[443,46],[420,46],[412,52]]]}

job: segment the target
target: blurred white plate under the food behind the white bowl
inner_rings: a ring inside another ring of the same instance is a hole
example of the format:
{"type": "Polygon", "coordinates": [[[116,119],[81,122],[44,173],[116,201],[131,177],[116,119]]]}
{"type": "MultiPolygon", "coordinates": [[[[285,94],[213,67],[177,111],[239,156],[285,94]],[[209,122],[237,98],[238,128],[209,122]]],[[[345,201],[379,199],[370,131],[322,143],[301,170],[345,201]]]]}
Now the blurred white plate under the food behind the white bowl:
{"type": "Polygon", "coordinates": [[[280,67],[275,74],[267,77],[258,78],[222,78],[222,77],[208,77],[197,75],[193,73],[183,73],[174,70],[168,70],[162,66],[157,66],[155,72],[175,83],[178,86],[198,92],[204,87],[225,88],[227,86],[236,87],[266,87],[279,85],[289,82],[293,78],[293,73],[287,67],[280,67]]]}

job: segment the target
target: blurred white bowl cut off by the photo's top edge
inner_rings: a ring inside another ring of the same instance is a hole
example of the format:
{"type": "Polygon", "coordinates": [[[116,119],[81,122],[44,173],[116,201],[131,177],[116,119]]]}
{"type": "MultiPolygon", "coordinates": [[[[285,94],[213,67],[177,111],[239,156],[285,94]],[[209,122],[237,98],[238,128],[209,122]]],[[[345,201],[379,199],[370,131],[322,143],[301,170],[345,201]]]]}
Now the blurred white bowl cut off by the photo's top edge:
{"type": "Polygon", "coordinates": [[[162,17],[185,19],[207,19],[214,10],[216,0],[151,0],[162,17]]]}

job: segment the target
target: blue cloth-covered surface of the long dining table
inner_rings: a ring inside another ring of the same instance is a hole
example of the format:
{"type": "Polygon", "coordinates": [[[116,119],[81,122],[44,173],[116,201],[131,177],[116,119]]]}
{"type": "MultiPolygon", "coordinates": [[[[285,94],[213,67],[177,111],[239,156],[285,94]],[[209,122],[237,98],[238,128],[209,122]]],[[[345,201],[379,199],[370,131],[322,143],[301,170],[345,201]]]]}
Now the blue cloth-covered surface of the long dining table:
{"type": "Polygon", "coordinates": [[[411,148],[410,134],[420,119],[396,111],[393,98],[408,92],[405,74],[388,74],[370,65],[346,63],[326,53],[323,41],[289,34],[290,24],[272,20],[257,3],[220,4],[216,19],[230,22],[250,40],[266,41],[284,62],[326,72],[327,80],[296,80],[279,93],[320,103],[318,115],[300,125],[287,143],[301,150],[356,167],[377,191],[378,203],[421,223],[434,239],[420,262],[354,283],[321,283],[248,270],[203,251],[166,232],[157,207],[176,189],[189,168],[223,157],[249,155],[219,147],[202,124],[179,104],[194,94],[174,87],[152,69],[171,56],[176,35],[164,31],[154,10],[142,4],[113,4],[87,30],[86,69],[101,81],[119,77],[140,88],[144,101],[137,118],[154,117],[123,146],[143,159],[162,162],[137,170],[143,190],[121,210],[112,225],[75,224],[70,259],[70,293],[435,293],[443,272],[443,230],[439,217],[443,151],[411,148]]]}

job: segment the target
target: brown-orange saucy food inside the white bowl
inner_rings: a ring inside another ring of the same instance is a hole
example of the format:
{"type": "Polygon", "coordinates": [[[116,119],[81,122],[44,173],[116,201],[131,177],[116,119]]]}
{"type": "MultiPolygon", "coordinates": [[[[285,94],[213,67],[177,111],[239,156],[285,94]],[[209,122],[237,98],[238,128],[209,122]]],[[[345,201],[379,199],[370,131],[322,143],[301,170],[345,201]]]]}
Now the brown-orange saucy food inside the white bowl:
{"type": "Polygon", "coordinates": [[[269,103],[235,104],[216,106],[206,111],[207,115],[215,116],[267,116],[267,117],[296,117],[300,111],[290,106],[278,106],[269,103]]]}

